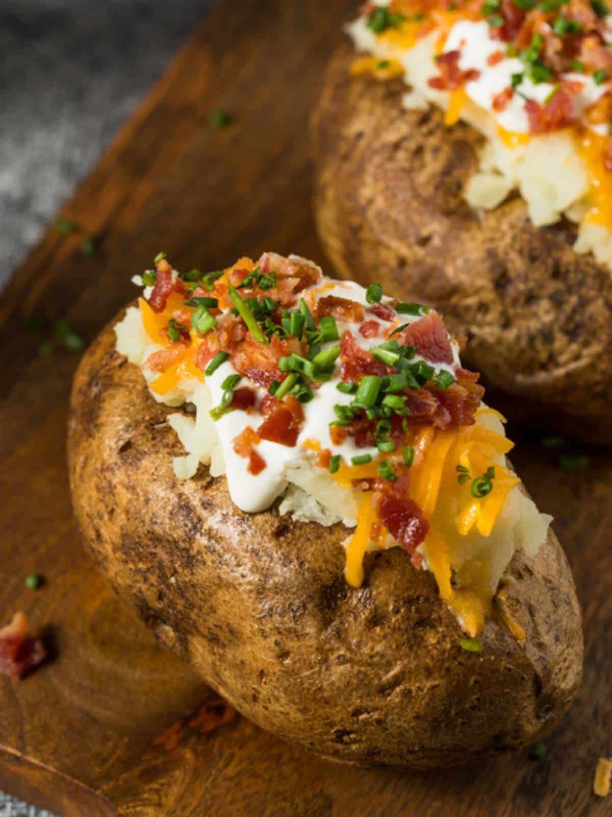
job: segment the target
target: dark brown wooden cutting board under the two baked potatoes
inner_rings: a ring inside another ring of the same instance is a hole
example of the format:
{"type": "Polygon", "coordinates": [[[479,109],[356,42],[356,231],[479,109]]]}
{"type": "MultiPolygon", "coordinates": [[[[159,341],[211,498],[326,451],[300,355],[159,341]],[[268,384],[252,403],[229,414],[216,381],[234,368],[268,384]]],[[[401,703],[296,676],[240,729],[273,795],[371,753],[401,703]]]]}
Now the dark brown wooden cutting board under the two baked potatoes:
{"type": "Polygon", "coordinates": [[[0,678],[0,788],[72,815],[610,815],[592,794],[612,755],[612,463],[557,467],[525,432],[513,458],[557,517],[584,607],[583,688],[547,741],[444,772],[358,770],[313,757],[244,719],[208,735],[185,727],[211,695],[153,639],[82,553],[64,466],[69,352],[38,355],[68,317],[91,340],[134,295],[130,277],[165,250],[176,266],[218,269],[264,249],[324,262],[311,215],[308,109],[350,7],[342,0],[222,2],[176,56],[63,215],[95,235],[50,228],[0,300],[0,618],[16,609],[44,632],[51,660],[0,678]],[[208,125],[223,107],[233,124],[208,125]],[[37,592],[27,574],[44,575],[37,592]]]}

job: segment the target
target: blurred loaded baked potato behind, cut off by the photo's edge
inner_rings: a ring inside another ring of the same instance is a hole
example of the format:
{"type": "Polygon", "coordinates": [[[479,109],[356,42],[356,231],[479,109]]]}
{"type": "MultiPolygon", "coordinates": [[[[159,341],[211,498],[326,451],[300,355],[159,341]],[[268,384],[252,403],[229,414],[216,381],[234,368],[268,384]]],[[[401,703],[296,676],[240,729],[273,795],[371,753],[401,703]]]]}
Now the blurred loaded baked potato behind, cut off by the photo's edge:
{"type": "Polygon", "coordinates": [[[599,0],[370,2],[313,116],[339,275],[439,306],[519,417],[597,443],[612,442],[610,21],[599,0]]]}

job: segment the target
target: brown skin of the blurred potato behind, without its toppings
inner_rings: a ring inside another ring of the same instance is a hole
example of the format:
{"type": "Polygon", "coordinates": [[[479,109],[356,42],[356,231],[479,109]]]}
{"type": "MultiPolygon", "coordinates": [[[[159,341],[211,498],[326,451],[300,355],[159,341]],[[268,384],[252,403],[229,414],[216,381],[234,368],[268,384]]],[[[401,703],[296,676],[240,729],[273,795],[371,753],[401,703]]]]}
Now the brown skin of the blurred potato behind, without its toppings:
{"type": "Polygon", "coordinates": [[[518,195],[481,221],[463,198],[481,136],[406,110],[402,78],[352,77],[344,44],[313,114],[315,211],[338,274],[438,306],[464,363],[520,398],[500,406],[612,443],[612,273],[572,249],[575,227],[531,225],[518,195]]]}

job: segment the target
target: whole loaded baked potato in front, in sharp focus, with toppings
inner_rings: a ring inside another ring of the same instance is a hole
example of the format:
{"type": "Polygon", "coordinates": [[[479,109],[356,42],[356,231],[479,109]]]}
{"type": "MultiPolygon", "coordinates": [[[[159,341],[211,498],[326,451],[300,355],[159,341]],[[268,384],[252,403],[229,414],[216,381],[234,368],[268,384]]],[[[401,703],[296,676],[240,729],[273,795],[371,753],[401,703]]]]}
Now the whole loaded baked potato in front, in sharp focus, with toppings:
{"type": "Polygon", "coordinates": [[[573,579],[440,316],[273,253],[135,282],[75,376],[69,472],[158,639],[339,761],[548,731],[582,674],[573,579]]]}

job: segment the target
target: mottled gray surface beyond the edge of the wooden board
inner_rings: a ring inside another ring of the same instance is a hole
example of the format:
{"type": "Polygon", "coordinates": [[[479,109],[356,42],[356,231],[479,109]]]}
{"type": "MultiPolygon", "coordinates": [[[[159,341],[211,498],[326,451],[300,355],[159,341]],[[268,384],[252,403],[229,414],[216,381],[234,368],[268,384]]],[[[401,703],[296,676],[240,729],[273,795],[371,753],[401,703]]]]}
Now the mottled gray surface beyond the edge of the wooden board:
{"type": "Polygon", "coordinates": [[[0,288],[209,5],[0,0],[0,288]]]}

